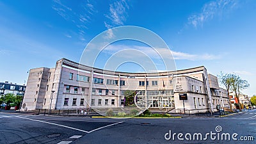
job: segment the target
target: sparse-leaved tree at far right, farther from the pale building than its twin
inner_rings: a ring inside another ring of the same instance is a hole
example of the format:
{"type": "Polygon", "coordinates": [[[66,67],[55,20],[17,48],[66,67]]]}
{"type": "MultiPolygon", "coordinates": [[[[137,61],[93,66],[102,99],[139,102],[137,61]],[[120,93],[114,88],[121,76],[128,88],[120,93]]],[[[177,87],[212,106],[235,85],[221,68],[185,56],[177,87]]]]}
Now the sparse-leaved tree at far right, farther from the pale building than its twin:
{"type": "Polygon", "coordinates": [[[239,77],[236,74],[231,74],[231,90],[235,92],[235,97],[237,98],[240,111],[241,111],[241,104],[239,100],[239,95],[241,94],[241,91],[248,88],[249,86],[250,84],[248,83],[248,81],[241,79],[241,77],[239,77]]]}

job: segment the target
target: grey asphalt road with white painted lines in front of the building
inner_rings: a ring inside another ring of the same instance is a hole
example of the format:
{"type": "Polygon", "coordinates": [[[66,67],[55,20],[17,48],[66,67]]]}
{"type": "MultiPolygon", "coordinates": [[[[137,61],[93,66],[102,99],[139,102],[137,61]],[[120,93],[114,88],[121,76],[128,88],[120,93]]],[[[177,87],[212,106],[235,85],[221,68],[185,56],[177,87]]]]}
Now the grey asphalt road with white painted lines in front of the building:
{"type": "Polygon", "coordinates": [[[256,143],[255,138],[256,109],[220,118],[125,120],[0,112],[0,143],[256,143]]]}

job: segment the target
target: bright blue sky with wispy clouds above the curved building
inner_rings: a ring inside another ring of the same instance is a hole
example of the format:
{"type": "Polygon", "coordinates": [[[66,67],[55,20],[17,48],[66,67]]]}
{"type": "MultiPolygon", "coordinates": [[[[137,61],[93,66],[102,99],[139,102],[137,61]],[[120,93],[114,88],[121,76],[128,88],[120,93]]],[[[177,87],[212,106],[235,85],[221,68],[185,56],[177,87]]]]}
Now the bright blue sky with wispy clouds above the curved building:
{"type": "MultiPolygon", "coordinates": [[[[214,75],[234,72],[248,80],[244,93],[253,95],[255,13],[253,0],[0,1],[0,81],[23,84],[31,68],[54,67],[61,58],[79,62],[93,37],[128,25],[161,36],[177,69],[204,65],[214,75]]],[[[117,42],[111,47],[118,51],[122,45],[145,46],[117,42]]],[[[109,54],[102,54],[102,60],[109,54]]],[[[131,63],[119,70],[127,67],[131,63]]],[[[136,70],[140,67],[134,66],[136,70]]]]}

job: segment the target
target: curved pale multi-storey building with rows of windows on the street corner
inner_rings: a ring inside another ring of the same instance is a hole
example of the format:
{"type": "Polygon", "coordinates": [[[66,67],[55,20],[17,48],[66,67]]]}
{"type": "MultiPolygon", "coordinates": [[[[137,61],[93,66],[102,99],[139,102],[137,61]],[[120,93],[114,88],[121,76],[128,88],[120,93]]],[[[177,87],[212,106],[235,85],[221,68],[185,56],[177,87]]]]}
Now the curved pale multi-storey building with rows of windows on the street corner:
{"type": "Polygon", "coordinates": [[[55,68],[29,71],[22,109],[122,108],[125,90],[147,99],[152,111],[198,113],[228,107],[227,90],[205,67],[159,73],[113,72],[65,58],[55,68]],[[141,96],[142,95],[142,96],[141,96]],[[186,96],[188,100],[180,100],[186,96]]]}

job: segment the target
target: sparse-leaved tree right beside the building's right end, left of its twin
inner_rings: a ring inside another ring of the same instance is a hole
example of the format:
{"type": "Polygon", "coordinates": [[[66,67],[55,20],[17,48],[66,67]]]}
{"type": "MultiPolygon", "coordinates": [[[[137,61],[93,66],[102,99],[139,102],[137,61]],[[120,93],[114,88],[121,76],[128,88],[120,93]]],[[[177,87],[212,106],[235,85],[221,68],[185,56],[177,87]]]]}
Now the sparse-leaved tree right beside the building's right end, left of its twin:
{"type": "Polygon", "coordinates": [[[229,97],[229,91],[231,88],[231,82],[232,82],[232,74],[223,74],[221,73],[220,76],[218,76],[219,82],[225,86],[228,92],[228,99],[229,99],[229,107],[230,110],[232,110],[232,104],[229,97]]]}

